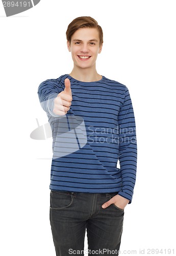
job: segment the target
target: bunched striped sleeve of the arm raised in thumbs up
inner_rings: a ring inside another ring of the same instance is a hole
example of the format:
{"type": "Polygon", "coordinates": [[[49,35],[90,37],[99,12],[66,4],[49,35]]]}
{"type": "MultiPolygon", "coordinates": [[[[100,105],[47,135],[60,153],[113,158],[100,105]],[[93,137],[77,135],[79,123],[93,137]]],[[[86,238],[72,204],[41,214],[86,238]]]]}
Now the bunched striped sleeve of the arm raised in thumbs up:
{"type": "Polygon", "coordinates": [[[54,99],[63,90],[62,84],[58,83],[56,79],[47,79],[40,83],[38,96],[42,109],[46,112],[47,116],[58,117],[58,115],[53,113],[54,99]]]}

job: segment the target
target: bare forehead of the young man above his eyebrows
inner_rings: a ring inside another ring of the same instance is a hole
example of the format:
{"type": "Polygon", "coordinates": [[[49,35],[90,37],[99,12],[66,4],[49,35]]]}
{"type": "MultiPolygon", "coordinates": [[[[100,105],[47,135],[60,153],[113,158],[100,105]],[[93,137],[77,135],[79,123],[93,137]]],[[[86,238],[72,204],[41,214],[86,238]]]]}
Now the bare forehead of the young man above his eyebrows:
{"type": "Polygon", "coordinates": [[[71,37],[71,40],[79,39],[88,41],[91,39],[99,40],[99,32],[96,28],[80,28],[71,37]]]}

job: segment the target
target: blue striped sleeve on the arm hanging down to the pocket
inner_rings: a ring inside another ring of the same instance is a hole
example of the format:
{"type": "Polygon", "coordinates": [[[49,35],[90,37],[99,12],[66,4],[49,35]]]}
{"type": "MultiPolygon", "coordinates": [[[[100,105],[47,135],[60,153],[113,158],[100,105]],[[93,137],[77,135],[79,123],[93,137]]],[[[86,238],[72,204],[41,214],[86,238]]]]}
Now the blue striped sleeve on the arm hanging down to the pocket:
{"type": "Polygon", "coordinates": [[[136,125],[132,101],[128,89],[118,114],[119,128],[119,163],[122,179],[122,190],[119,195],[132,201],[136,181],[137,142],[136,125]]]}

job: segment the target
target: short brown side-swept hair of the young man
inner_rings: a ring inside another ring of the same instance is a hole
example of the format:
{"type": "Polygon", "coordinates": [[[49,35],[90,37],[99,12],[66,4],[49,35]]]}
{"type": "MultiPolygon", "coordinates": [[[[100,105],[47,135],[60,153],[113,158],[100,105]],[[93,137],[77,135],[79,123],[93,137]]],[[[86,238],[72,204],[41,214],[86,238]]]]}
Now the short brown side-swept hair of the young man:
{"type": "Polygon", "coordinates": [[[66,37],[69,43],[71,43],[71,36],[80,28],[97,28],[99,32],[99,45],[103,44],[103,30],[98,25],[97,21],[89,16],[82,16],[72,20],[68,25],[66,31],[66,37]]]}

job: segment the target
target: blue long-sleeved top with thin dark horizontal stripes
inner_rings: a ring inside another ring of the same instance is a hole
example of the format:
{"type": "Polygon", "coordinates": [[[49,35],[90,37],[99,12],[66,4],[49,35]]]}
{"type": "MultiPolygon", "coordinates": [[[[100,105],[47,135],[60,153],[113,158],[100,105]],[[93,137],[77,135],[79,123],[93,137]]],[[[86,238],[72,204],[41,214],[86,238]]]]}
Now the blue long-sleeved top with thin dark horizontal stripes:
{"type": "Polygon", "coordinates": [[[133,106],[127,87],[105,76],[78,81],[68,74],[38,88],[53,133],[52,190],[112,193],[132,201],[137,144],[133,106]],[[54,99],[71,83],[72,102],[65,116],[53,113],[54,99]],[[120,168],[117,168],[119,161],[120,168]]]}

